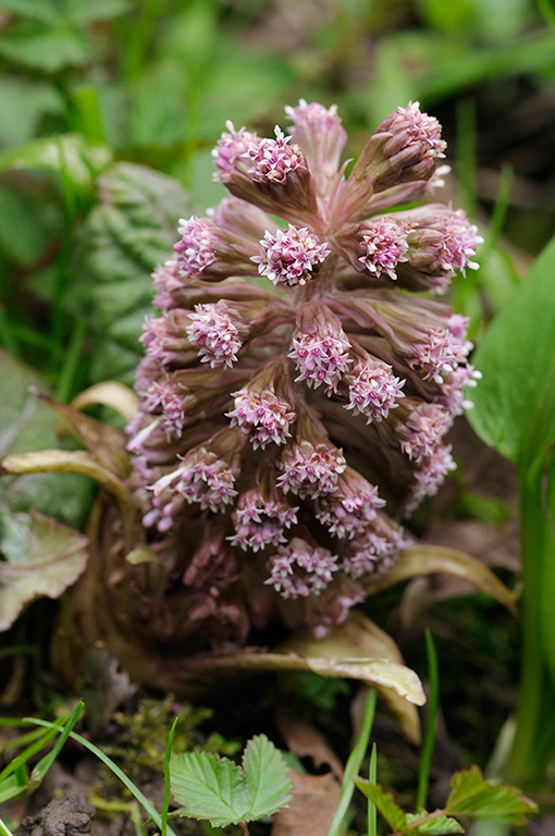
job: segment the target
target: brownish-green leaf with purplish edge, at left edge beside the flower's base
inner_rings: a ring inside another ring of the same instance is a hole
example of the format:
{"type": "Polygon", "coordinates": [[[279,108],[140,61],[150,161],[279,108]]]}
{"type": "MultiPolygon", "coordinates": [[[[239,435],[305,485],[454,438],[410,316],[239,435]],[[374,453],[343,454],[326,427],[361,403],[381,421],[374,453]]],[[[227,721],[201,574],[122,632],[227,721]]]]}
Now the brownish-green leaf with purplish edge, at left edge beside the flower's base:
{"type": "Polygon", "coordinates": [[[36,598],[59,598],[78,578],[88,558],[84,534],[36,512],[27,520],[27,554],[0,562],[0,631],[9,629],[36,598]]]}

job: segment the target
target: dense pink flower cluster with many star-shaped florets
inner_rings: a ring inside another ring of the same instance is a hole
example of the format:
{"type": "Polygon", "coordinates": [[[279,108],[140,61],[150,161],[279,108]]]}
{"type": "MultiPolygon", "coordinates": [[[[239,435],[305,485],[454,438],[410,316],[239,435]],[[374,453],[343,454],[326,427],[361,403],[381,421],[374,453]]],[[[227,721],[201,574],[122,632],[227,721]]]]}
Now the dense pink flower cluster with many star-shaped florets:
{"type": "Polygon", "coordinates": [[[155,273],[128,427],[165,591],[214,644],[347,616],[455,467],[444,437],[480,377],[467,320],[422,292],[482,239],[448,206],[403,209],[441,184],[437,121],[398,108],[347,175],[336,108],[286,113],[273,138],[226,124],[230,196],[155,273]]]}

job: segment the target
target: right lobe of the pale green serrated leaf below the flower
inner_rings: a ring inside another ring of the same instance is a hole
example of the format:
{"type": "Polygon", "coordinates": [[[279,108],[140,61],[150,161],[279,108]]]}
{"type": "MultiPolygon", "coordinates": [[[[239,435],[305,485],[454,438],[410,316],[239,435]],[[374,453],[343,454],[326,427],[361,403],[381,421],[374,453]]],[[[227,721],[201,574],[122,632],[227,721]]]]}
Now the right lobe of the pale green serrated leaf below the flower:
{"type": "Polygon", "coordinates": [[[285,807],[291,798],[287,765],[264,735],[257,735],[248,741],[243,755],[243,769],[249,801],[248,817],[244,821],[272,815],[285,807]]]}

